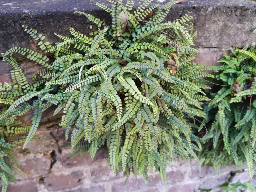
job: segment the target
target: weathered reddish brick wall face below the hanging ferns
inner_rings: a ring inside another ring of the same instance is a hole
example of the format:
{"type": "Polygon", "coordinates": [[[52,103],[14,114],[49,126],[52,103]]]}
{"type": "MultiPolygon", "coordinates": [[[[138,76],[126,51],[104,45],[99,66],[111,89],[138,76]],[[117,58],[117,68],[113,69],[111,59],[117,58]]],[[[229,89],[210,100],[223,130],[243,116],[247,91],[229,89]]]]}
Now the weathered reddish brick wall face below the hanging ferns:
{"type": "Polygon", "coordinates": [[[17,175],[8,192],[196,192],[199,188],[212,188],[226,181],[249,180],[248,173],[232,172],[233,167],[220,169],[219,174],[210,167],[199,170],[198,163],[175,160],[167,168],[167,184],[160,177],[150,175],[151,184],[143,178],[130,176],[126,184],[122,173],[112,173],[106,157],[107,150],[97,152],[94,160],[88,153],[70,158],[73,150],[67,148],[64,130],[59,126],[40,128],[36,133],[43,139],[32,141],[25,151],[17,151],[20,168],[28,178],[17,175]]]}

